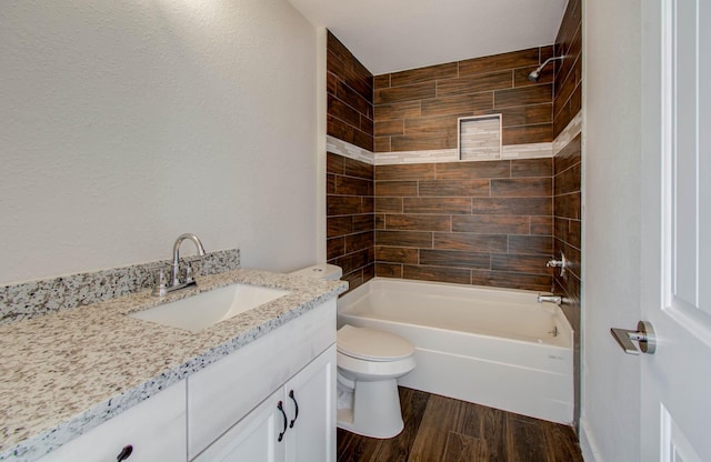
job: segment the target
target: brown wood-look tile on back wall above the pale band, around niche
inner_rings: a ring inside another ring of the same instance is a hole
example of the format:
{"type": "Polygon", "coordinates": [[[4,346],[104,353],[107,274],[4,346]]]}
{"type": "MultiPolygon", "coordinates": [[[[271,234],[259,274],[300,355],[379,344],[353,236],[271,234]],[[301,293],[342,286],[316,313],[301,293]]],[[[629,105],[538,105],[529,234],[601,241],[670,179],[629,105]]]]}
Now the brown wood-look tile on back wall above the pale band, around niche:
{"type": "Polygon", "coordinates": [[[457,119],[502,114],[503,144],[553,140],[553,56],[531,48],[374,77],[375,152],[457,148],[457,119]]]}

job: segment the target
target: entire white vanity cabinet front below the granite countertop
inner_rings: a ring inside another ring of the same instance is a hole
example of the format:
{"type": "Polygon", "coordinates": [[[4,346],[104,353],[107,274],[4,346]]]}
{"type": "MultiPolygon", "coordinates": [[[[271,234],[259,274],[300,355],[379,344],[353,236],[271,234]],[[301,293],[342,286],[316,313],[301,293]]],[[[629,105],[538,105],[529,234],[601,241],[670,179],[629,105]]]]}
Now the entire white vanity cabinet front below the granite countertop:
{"type": "Polygon", "coordinates": [[[116,461],[129,444],[131,455],[121,459],[129,462],[334,461],[336,303],[226,354],[40,461],[116,461]]]}

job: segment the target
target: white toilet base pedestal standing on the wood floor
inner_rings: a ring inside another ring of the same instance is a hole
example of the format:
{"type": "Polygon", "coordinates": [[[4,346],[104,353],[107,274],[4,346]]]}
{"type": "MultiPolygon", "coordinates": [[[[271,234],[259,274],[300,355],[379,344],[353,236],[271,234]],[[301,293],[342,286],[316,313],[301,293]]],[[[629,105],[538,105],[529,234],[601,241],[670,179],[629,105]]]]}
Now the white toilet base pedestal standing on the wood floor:
{"type": "Polygon", "coordinates": [[[338,428],[356,434],[379,439],[397,436],[404,428],[398,381],[356,381],[353,408],[339,409],[337,419],[338,428]]]}

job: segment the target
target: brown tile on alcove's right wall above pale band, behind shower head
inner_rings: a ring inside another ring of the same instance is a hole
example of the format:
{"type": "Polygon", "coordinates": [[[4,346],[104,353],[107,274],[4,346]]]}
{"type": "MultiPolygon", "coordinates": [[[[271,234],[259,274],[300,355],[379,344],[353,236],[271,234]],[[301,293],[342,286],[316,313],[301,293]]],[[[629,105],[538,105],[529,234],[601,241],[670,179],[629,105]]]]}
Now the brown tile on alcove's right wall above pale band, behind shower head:
{"type": "Polygon", "coordinates": [[[570,0],[555,38],[555,56],[565,56],[555,66],[553,138],[582,108],[582,0],[570,0]]]}

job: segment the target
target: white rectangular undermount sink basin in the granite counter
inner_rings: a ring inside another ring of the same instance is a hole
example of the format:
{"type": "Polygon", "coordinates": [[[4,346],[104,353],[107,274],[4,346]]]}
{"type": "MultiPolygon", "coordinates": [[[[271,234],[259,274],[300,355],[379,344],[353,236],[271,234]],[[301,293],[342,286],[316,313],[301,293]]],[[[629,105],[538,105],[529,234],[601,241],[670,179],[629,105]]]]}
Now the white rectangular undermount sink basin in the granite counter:
{"type": "Polygon", "coordinates": [[[198,332],[288,293],[288,290],[282,289],[232,284],[129,315],[198,332]]]}

